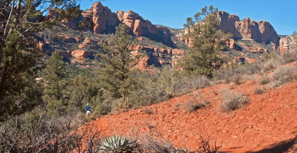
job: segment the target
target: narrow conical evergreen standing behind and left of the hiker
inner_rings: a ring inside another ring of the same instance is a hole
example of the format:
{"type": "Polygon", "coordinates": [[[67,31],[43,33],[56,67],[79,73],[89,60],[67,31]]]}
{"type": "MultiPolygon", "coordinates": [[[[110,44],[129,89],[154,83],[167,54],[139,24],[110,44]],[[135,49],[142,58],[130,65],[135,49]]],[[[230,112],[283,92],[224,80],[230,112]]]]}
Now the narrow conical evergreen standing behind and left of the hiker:
{"type": "Polygon", "coordinates": [[[63,114],[67,111],[67,73],[64,72],[64,60],[61,52],[56,50],[52,53],[42,78],[45,80],[43,101],[47,104],[46,110],[49,115],[63,114]]]}

